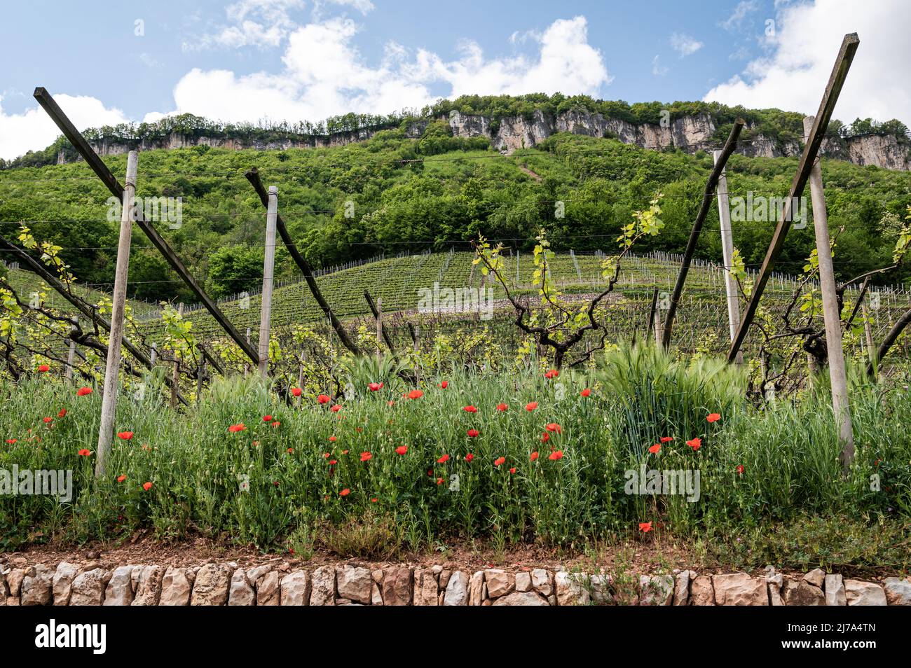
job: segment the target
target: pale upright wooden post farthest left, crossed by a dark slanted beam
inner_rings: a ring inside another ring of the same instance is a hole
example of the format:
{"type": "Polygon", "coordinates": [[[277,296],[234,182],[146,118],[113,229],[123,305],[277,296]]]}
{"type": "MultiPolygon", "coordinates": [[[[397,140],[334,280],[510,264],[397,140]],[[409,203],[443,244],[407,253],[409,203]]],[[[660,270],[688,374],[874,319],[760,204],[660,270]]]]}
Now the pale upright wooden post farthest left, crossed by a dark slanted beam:
{"type": "Polygon", "coordinates": [[[127,180],[124,182],[120,208],[120,238],[117,247],[117,268],[114,273],[114,296],[111,305],[111,330],[107,339],[107,366],[105,390],[101,398],[101,423],[98,427],[95,477],[105,474],[107,455],[114,437],[114,414],[117,410],[118,370],[120,368],[120,339],[123,338],[123,315],[127,303],[127,278],[129,272],[129,242],[133,233],[134,201],[136,198],[136,172],[138,153],[127,156],[127,180]]]}

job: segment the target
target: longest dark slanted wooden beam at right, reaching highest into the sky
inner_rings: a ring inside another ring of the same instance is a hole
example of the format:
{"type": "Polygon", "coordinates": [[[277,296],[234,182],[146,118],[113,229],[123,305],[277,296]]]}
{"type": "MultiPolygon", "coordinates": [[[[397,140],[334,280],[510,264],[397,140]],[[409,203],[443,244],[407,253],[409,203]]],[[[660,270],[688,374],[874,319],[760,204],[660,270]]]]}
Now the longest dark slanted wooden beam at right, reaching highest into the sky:
{"type": "Polygon", "coordinates": [[[819,111],[816,112],[813,129],[807,133],[804,153],[801,155],[800,163],[797,165],[797,173],[794,174],[791,182],[791,190],[784,204],[781,218],[778,219],[778,225],[775,226],[772,243],[769,244],[769,248],[765,252],[763,267],[753,283],[752,294],[747,302],[746,310],[743,312],[740,327],[737,328],[737,333],[734,334],[734,339],[731,342],[731,349],[728,350],[729,362],[736,359],[737,352],[741,349],[743,340],[746,339],[747,331],[750,329],[752,319],[756,315],[756,309],[759,307],[759,300],[763,297],[765,285],[769,282],[775,267],[775,261],[782,252],[784,238],[787,236],[788,230],[791,229],[793,202],[804,194],[804,187],[806,187],[806,182],[810,178],[810,170],[813,168],[814,160],[819,153],[819,147],[823,144],[825,131],[829,127],[829,120],[832,118],[835,103],[842,92],[844,79],[848,76],[848,70],[851,68],[851,63],[854,60],[859,44],[860,39],[856,33],[844,35],[842,47],[835,58],[832,74],[829,76],[829,83],[825,86],[823,100],[820,102],[819,111]]]}

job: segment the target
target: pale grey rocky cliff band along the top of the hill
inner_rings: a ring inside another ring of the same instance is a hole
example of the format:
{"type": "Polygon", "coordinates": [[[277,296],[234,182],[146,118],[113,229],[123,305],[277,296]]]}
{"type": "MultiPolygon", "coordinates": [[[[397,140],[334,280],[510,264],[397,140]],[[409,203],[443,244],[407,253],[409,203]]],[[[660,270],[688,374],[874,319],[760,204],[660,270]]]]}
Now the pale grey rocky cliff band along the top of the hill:
{"type": "MultiPolygon", "coordinates": [[[[613,137],[642,148],[679,148],[694,153],[708,150],[720,143],[715,137],[717,127],[710,114],[697,114],[676,118],[667,124],[633,124],[619,118],[609,118],[584,109],[569,110],[556,116],[536,111],[530,118],[506,116],[496,121],[488,116],[467,115],[453,111],[448,117],[454,137],[487,137],[491,145],[503,153],[512,153],[518,148],[535,147],[538,143],[558,132],[569,132],[587,137],[613,137]]],[[[418,138],[424,133],[427,120],[417,120],[405,127],[405,136],[418,138]]],[[[748,129],[752,129],[748,127],[748,129]]],[[[284,150],[287,148],[337,147],[363,141],[372,137],[375,130],[364,128],[328,136],[301,136],[281,140],[262,141],[228,137],[168,137],[146,139],[139,143],[140,150],[153,148],[181,148],[209,146],[222,148],[254,148],[258,150],[284,150]]],[[[102,156],[126,153],[135,145],[125,141],[101,140],[93,147],[102,156]]],[[[748,157],[797,156],[801,152],[795,140],[765,137],[752,134],[743,140],[738,153],[748,157]]],[[[875,165],[885,169],[911,169],[911,147],[899,142],[892,135],[864,135],[859,137],[826,137],[822,155],[848,160],[855,165],[875,165]]],[[[66,157],[61,152],[58,163],[66,157]]]]}

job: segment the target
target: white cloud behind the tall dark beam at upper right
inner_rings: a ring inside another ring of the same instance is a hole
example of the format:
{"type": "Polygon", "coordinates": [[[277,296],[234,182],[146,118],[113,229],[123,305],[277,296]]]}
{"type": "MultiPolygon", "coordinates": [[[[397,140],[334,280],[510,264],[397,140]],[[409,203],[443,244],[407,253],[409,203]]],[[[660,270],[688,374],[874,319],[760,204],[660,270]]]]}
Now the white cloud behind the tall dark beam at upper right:
{"type": "Polygon", "coordinates": [[[771,55],[752,61],[742,75],[712,88],[703,99],[753,108],[778,108],[814,114],[835,56],[847,33],[860,37],[854,64],[835,107],[834,117],[898,118],[911,122],[911,41],[906,0],[816,0],[783,5],[776,16],[771,55]],[[812,25],[808,30],[806,26],[812,25]]]}

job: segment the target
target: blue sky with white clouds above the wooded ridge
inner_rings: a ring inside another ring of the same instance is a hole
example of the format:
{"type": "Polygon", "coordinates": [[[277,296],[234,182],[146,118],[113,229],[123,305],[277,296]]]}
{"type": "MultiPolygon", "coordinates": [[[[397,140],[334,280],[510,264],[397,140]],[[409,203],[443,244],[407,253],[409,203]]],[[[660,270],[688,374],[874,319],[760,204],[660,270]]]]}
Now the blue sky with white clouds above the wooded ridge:
{"type": "Polygon", "coordinates": [[[561,92],[814,113],[842,37],[860,46],[834,116],[911,125],[911,0],[0,0],[0,157],[79,127],[420,109],[561,92]]]}

